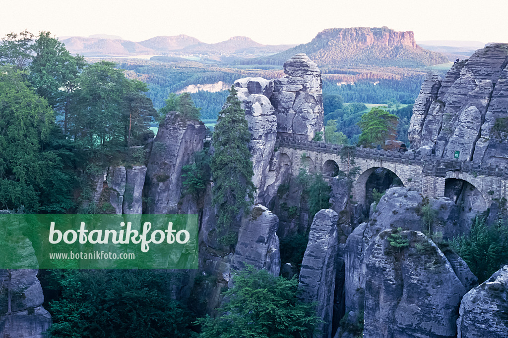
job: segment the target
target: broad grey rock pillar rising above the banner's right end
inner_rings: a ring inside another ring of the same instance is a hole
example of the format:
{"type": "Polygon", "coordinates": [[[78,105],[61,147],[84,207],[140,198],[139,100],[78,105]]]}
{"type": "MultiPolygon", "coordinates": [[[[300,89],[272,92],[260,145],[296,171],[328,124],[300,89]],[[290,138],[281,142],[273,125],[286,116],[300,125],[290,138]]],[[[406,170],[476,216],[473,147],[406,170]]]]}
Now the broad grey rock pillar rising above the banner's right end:
{"type": "Polygon", "coordinates": [[[159,125],[146,169],[148,213],[174,213],[180,200],[182,168],[203,149],[206,127],[170,112],[159,125]]]}

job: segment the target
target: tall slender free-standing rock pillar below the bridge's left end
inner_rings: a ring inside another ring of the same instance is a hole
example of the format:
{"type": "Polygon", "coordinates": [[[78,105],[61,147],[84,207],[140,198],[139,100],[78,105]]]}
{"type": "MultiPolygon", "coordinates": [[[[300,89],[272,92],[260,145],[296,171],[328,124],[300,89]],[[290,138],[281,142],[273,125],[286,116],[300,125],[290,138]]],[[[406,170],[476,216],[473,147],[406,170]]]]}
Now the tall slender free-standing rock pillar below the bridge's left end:
{"type": "Polygon", "coordinates": [[[323,337],[332,335],[336,258],[338,250],[337,213],[323,209],[315,214],[310,226],[309,242],[300,270],[302,299],[317,302],[316,314],[323,337]]]}

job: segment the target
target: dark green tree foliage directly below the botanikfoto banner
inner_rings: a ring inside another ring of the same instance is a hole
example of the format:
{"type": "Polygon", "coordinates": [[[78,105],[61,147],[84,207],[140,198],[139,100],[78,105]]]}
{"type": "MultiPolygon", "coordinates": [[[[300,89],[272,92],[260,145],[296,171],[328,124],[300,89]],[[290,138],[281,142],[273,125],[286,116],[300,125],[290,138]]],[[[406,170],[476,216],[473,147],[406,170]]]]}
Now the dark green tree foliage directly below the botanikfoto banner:
{"type": "Polygon", "coordinates": [[[190,318],[167,293],[168,273],[55,270],[61,297],[50,302],[53,338],[183,337],[190,318]]]}

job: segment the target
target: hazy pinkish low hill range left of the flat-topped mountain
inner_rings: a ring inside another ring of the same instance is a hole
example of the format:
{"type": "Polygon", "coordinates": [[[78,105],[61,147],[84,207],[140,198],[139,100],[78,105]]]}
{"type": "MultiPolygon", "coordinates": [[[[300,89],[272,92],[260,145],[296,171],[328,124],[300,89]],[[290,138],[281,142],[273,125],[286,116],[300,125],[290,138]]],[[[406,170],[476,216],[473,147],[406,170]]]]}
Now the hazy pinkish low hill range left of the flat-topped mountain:
{"type": "MultiPolygon", "coordinates": [[[[112,36],[115,37],[115,36],[112,36]]],[[[118,36],[119,37],[119,36],[118,36]]],[[[180,34],[174,36],[155,36],[151,39],[133,42],[110,39],[105,34],[81,37],[71,36],[62,40],[71,53],[88,57],[137,56],[137,55],[205,55],[208,57],[249,57],[270,55],[294,47],[294,45],[262,45],[246,36],[234,36],[229,40],[207,44],[195,37],[180,34]]],[[[215,58],[219,59],[219,58],[215,58]]]]}

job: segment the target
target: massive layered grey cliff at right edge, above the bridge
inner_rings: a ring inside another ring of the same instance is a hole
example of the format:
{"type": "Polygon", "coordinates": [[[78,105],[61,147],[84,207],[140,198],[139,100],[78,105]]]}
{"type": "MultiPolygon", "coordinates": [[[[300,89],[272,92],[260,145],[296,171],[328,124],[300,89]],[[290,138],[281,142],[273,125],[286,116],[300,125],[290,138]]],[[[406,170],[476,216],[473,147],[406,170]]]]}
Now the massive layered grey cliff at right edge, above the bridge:
{"type": "Polygon", "coordinates": [[[441,79],[427,74],[408,138],[437,156],[508,164],[508,45],[493,44],[456,63],[441,79]]]}

